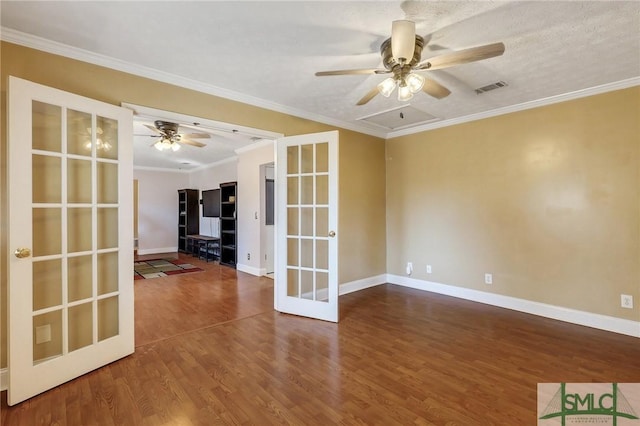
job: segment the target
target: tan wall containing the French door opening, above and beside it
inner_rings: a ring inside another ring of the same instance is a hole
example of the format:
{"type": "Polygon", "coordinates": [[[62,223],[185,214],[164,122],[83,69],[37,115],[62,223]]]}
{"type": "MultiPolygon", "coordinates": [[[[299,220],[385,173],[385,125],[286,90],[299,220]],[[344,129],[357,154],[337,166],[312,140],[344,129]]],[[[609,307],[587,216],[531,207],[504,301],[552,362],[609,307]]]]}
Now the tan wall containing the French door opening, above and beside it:
{"type": "MultiPolygon", "coordinates": [[[[57,55],[2,43],[2,128],[6,124],[6,81],[9,75],[55,87],[107,103],[144,105],[181,114],[225,121],[285,135],[334,130],[333,127],[265,110],[193,90],[137,77],[57,55]]],[[[6,134],[0,145],[0,196],[2,201],[0,244],[0,296],[2,328],[0,366],[6,366],[6,134]]],[[[341,283],[385,272],[384,140],[340,129],[339,204],[341,283]],[[375,186],[369,190],[368,186],[375,186]],[[352,188],[353,187],[353,188],[352,188]],[[357,189],[354,189],[357,188],[357,189]],[[357,196],[356,196],[357,195],[357,196]],[[369,212],[375,206],[376,211],[369,212]],[[366,235],[363,238],[362,235],[366,235]]]]}

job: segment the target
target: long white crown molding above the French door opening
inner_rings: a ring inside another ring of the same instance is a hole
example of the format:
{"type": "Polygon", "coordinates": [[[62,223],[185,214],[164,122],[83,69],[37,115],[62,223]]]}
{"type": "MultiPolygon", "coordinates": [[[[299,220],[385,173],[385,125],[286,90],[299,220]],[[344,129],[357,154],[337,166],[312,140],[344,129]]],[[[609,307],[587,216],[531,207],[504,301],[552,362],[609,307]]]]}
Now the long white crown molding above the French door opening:
{"type": "Polygon", "coordinates": [[[69,46],[64,43],[47,40],[45,38],[23,33],[21,31],[16,31],[11,28],[0,27],[0,40],[6,41],[8,43],[18,44],[20,46],[29,47],[32,49],[41,50],[47,53],[52,53],[55,55],[88,62],[90,64],[111,68],[117,71],[134,74],[140,77],[150,78],[152,80],[161,81],[163,83],[173,84],[175,86],[184,87],[186,89],[196,90],[198,92],[218,96],[220,98],[242,102],[244,104],[265,108],[287,115],[292,115],[294,117],[304,118],[307,120],[316,121],[318,123],[352,130],[358,133],[364,133],[380,138],[384,138],[386,136],[386,132],[384,131],[377,131],[364,126],[357,126],[353,123],[335,120],[333,118],[326,117],[320,114],[313,114],[309,113],[308,111],[302,111],[296,108],[280,105],[278,103],[267,101],[265,99],[245,95],[243,93],[238,93],[211,84],[205,84],[196,80],[180,77],[175,74],[163,71],[158,71],[156,69],[152,69],[142,65],[132,64],[130,62],[112,58],[110,56],[89,52],[84,49],[79,49],[77,47],[69,46]]]}

